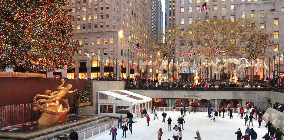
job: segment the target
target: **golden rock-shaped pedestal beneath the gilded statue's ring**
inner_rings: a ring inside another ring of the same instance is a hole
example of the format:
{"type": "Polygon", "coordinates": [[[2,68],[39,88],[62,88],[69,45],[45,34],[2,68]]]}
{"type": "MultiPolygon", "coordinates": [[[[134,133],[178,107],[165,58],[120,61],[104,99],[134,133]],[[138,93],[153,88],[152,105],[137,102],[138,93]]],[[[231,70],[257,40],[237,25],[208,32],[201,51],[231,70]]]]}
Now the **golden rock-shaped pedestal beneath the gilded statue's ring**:
{"type": "Polygon", "coordinates": [[[68,120],[68,117],[66,114],[56,116],[56,115],[49,115],[46,113],[42,113],[42,115],[38,118],[37,124],[49,124],[49,123],[54,123],[54,122],[59,122],[59,121],[65,121],[68,120]]]}

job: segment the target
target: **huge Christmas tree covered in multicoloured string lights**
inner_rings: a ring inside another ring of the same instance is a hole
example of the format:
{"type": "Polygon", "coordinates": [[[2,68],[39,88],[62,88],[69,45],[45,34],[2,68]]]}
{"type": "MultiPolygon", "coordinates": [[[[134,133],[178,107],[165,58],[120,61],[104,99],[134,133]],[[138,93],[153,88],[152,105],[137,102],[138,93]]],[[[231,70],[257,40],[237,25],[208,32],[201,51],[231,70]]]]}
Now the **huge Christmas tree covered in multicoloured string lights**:
{"type": "Polygon", "coordinates": [[[79,41],[65,0],[4,0],[0,2],[0,70],[36,72],[72,65],[79,41]]]}

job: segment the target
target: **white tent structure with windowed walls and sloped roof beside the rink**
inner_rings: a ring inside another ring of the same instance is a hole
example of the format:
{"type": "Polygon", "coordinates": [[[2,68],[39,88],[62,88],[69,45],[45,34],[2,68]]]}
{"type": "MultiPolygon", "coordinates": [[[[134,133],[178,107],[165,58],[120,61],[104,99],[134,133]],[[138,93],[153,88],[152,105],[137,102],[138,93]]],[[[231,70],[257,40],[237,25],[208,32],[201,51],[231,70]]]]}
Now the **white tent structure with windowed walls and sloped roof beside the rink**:
{"type": "Polygon", "coordinates": [[[98,91],[98,114],[107,116],[126,116],[128,112],[137,113],[149,109],[152,98],[127,90],[98,91]]]}

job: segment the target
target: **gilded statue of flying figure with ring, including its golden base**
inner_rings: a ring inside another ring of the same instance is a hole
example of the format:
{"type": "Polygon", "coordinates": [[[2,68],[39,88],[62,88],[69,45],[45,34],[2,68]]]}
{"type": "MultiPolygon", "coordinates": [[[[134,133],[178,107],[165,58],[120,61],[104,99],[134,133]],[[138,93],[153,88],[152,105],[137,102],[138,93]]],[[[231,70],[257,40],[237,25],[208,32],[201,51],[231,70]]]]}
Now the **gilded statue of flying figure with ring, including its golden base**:
{"type": "Polygon", "coordinates": [[[68,113],[70,107],[68,103],[65,100],[61,100],[61,98],[67,94],[67,93],[73,93],[75,91],[68,91],[69,89],[72,88],[71,84],[67,84],[67,86],[64,88],[62,87],[64,85],[64,79],[61,80],[62,84],[57,88],[60,91],[54,91],[51,92],[50,90],[45,91],[46,94],[36,94],[34,97],[34,110],[37,111],[42,111],[41,116],[38,118],[37,123],[38,124],[47,124],[47,123],[54,123],[58,121],[63,121],[68,119],[66,116],[66,113],[68,113]],[[36,101],[37,97],[42,97],[42,98],[48,98],[48,99],[39,99],[36,101]],[[65,108],[63,107],[61,102],[65,108]],[[42,105],[39,105],[38,103],[45,103],[42,105]]]}

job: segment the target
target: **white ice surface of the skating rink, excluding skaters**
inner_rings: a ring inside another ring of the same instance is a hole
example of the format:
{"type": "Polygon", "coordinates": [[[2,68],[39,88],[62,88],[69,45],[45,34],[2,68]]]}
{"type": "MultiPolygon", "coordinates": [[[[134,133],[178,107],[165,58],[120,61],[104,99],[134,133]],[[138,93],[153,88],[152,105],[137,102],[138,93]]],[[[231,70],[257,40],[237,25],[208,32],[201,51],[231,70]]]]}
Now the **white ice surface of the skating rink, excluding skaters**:
{"type": "MultiPolygon", "coordinates": [[[[132,134],[130,130],[126,132],[127,137],[122,138],[122,129],[117,130],[117,140],[157,140],[158,131],[162,128],[162,140],[173,140],[172,131],[168,131],[168,122],[167,119],[171,117],[172,119],[172,128],[176,125],[177,119],[181,115],[180,112],[165,112],[167,113],[165,123],[162,123],[162,112],[158,112],[159,120],[156,118],[154,120],[154,115],[151,113],[150,116],[150,125],[147,126],[146,118],[139,118],[133,121],[137,121],[137,123],[132,124],[132,134]]],[[[247,126],[245,126],[245,119],[240,119],[237,117],[237,113],[233,113],[233,119],[229,119],[230,117],[225,113],[225,118],[219,117],[219,122],[214,122],[211,118],[207,117],[207,113],[198,112],[197,114],[188,114],[186,112],[184,130],[182,131],[182,139],[183,140],[196,140],[193,137],[196,137],[196,130],[199,130],[202,140],[235,140],[237,135],[235,132],[240,128],[243,135],[245,135],[245,130],[247,126]]],[[[219,114],[219,113],[218,113],[219,114]]],[[[249,121],[248,121],[249,123],[249,121]]],[[[123,125],[123,124],[122,124],[123,125]]],[[[115,126],[117,127],[117,126],[115,126]]],[[[120,126],[119,126],[120,127],[120,126]]],[[[253,128],[257,133],[257,139],[262,139],[262,137],[267,133],[267,130],[261,126],[258,128],[258,122],[253,120],[253,128]]],[[[90,140],[112,140],[112,136],[109,136],[109,130],[106,132],[102,132],[99,135],[96,135],[90,140]]]]}

